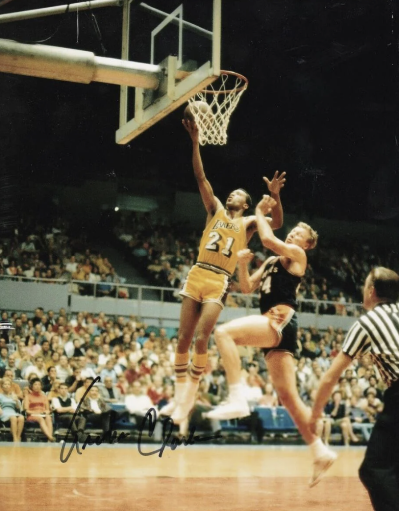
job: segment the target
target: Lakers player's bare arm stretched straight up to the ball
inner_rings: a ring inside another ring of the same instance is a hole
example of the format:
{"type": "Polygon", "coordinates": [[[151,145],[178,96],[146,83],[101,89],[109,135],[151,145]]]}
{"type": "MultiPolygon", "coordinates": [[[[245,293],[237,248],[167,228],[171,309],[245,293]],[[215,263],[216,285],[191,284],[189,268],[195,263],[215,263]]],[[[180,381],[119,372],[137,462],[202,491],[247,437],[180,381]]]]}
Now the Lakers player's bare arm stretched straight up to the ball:
{"type": "Polygon", "coordinates": [[[208,212],[208,215],[215,215],[216,211],[223,207],[222,202],[215,196],[212,184],[205,176],[204,166],[202,164],[201,152],[198,142],[198,128],[194,121],[183,119],[182,124],[189,133],[193,143],[193,170],[194,177],[198,183],[198,188],[201,193],[202,201],[208,212]]]}

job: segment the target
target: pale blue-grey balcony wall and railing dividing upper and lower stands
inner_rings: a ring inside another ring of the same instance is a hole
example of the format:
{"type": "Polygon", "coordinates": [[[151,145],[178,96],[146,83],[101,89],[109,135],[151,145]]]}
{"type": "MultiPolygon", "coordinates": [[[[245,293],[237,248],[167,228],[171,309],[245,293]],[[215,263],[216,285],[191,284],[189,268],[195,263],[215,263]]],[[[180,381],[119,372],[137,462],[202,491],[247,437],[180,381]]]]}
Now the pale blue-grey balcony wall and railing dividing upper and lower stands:
{"type": "MultiPolygon", "coordinates": [[[[104,311],[108,315],[135,315],[154,326],[177,327],[180,314],[177,296],[178,289],[156,286],[0,276],[0,308],[10,312],[31,312],[37,307],[58,311],[63,307],[69,314],[79,311],[96,314],[104,311]]],[[[346,330],[361,312],[360,304],[301,300],[299,325],[321,329],[332,325],[346,330]],[[331,308],[330,314],[328,311],[325,313],[326,307],[331,308]]],[[[230,300],[220,321],[259,313],[257,295],[230,293],[230,300]]]]}

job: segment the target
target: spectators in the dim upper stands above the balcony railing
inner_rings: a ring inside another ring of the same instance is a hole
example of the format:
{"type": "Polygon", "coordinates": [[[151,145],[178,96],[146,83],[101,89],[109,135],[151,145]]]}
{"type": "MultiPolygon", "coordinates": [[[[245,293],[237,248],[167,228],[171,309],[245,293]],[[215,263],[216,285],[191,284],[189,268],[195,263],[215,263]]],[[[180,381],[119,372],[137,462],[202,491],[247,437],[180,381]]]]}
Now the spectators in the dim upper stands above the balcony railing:
{"type": "MultiPolygon", "coordinates": [[[[67,221],[57,219],[52,227],[32,223],[23,231],[22,235],[16,230],[14,238],[0,243],[0,278],[41,278],[49,283],[74,280],[73,292],[81,295],[129,297],[128,288],[121,287],[126,279],[116,273],[101,252],[87,248],[89,243],[83,235],[71,236],[67,221]]],[[[170,290],[163,293],[163,299],[179,301],[179,289],[196,262],[202,232],[188,224],[172,225],[156,217],[149,221],[145,214],[122,212],[114,234],[127,260],[147,276],[149,283],[170,290]]],[[[250,247],[255,255],[253,272],[271,253],[257,236],[252,238],[250,247]]],[[[370,269],[399,264],[394,251],[381,253],[356,242],[346,247],[342,241],[321,240],[308,255],[307,272],[298,291],[299,310],[326,315],[359,316],[361,286],[370,269]]],[[[257,298],[240,295],[234,275],[227,306],[248,305],[256,308],[257,298]]]]}

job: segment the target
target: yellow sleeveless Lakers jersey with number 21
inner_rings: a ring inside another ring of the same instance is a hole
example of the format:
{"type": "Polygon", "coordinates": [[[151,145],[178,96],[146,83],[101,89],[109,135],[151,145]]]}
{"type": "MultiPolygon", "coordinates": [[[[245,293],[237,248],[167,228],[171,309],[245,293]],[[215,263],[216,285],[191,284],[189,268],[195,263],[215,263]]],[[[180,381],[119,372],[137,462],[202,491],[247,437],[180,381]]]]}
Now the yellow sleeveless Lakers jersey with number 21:
{"type": "Polygon", "coordinates": [[[226,210],[220,208],[205,227],[197,263],[213,266],[232,275],[237,266],[237,253],[246,246],[244,217],[231,219],[226,210]]]}

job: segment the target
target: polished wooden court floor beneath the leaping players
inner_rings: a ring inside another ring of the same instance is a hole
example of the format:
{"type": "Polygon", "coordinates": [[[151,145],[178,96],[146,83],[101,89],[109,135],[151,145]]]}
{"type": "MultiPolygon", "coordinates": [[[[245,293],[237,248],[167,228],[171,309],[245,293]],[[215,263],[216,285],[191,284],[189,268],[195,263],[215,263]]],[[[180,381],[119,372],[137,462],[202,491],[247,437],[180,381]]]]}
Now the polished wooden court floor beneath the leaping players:
{"type": "Polygon", "coordinates": [[[337,448],[312,489],[302,446],[179,446],[161,458],[140,455],[135,444],[89,446],[65,463],[61,447],[0,444],[0,509],[372,511],[357,476],[361,447],[337,448]]]}

